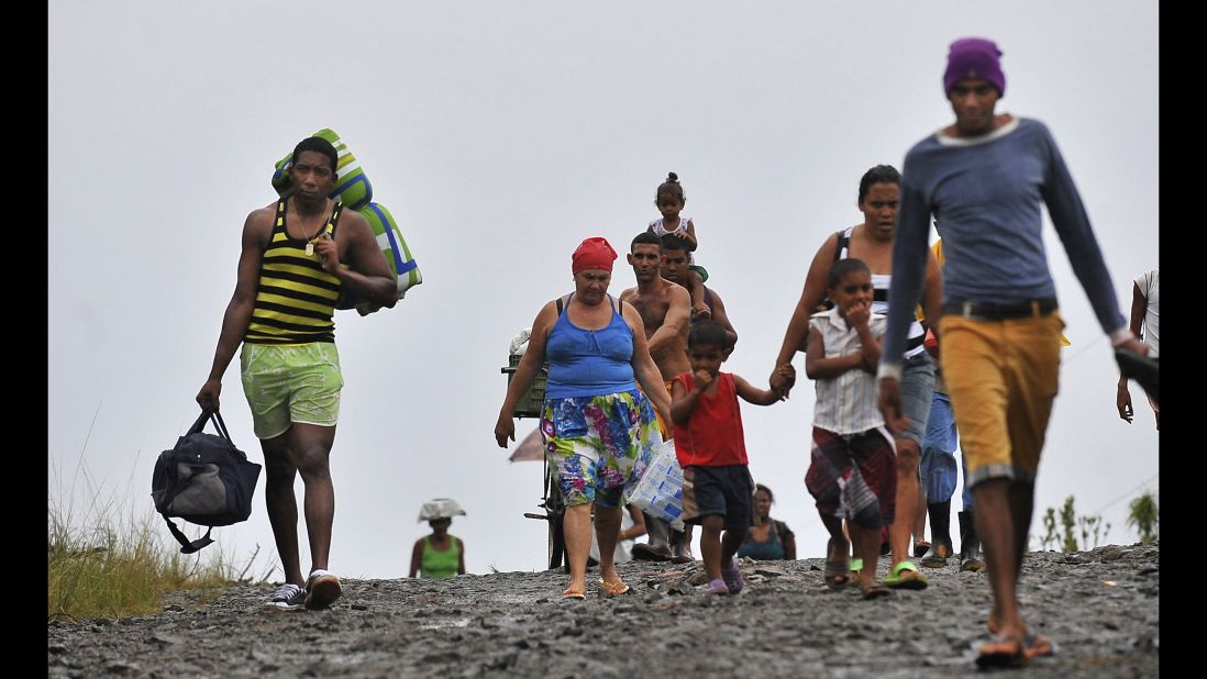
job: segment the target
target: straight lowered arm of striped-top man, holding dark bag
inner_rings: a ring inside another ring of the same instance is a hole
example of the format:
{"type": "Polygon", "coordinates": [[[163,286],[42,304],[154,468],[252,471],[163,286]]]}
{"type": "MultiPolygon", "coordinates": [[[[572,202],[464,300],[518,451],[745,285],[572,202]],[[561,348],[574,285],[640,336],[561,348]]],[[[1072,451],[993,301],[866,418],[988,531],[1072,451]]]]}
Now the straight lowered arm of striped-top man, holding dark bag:
{"type": "Polygon", "coordinates": [[[256,310],[256,292],[260,288],[260,262],[264,256],[268,245],[268,236],[272,233],[273,221],[268,209],[256,210],[247,215],[243,224],[243,250],[239,253],[239,269],[234,285],[234,294],[227,304],[222,315],[222,330],[218,334],[218,345],[214,350],[214,364],[210,367],[209,377],[197,392],[197,403],[202,406],[209,402],[215,409],[218,408],[218,397],[222,394],[222,374],[226,373],[234,351],[243,344],[243,336],[251,323],[251,315],[256,310]]]}

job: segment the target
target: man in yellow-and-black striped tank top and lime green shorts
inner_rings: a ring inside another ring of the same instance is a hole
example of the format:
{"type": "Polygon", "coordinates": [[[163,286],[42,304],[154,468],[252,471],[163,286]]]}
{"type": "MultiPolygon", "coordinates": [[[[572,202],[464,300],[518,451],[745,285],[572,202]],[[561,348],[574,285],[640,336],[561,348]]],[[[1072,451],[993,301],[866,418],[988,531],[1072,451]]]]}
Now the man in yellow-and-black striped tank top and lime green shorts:
{"type": "Polygon", "coordinates": [[[381,306],[397,298],[368,222],[328,198],[337,162],[330,141],[302,140],[288,169],[293,193],[247,216],[234,294],[197,393],[197,403],[218,408],[222,374],[243,345],[240,375],[264,451],[264,502],[285,572],[270,609],[326,608],[340,595],[339,578],[327,570],[336,513],[328,458],[344,385],[332,316],[344,289],[381,306]],[[308,578],[298,556],[298,474],[305,486],[308,578]]]}

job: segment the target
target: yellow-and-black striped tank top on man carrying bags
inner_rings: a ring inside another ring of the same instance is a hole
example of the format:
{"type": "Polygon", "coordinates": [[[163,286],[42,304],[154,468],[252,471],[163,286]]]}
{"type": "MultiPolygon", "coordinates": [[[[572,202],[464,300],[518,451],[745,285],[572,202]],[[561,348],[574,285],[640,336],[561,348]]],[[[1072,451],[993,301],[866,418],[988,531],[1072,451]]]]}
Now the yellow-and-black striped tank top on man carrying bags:
{"type": "MultiPolygon", "coordinates": [[[[332,238],[343,204],[323,230],[332,238]]],[[[342,282],[322,269],[317,254],[307,254],[307,240],[285,230],[285,200],[276,203],[276,218],[268,248],[260,263],[256,309],[243,341],[249,344],[307,344],[336,341],[336,302],[342,282]]]]}

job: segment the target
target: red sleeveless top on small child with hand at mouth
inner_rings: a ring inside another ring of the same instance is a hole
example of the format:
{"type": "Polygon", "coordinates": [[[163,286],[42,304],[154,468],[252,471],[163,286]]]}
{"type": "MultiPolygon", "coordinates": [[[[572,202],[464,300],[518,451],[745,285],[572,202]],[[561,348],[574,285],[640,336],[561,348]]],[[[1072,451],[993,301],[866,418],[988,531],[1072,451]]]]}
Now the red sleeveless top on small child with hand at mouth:
{"type": "MultiPolygon", "coordinates": [[[[695,388],[692,373],[677,375],[675,381],[688,391],[695,388]]],[[[675,456],[681,467],[750,463],[733,373],[718,373],[717,393],[701,393],[687,426],[675,425],[675,456]]]]}

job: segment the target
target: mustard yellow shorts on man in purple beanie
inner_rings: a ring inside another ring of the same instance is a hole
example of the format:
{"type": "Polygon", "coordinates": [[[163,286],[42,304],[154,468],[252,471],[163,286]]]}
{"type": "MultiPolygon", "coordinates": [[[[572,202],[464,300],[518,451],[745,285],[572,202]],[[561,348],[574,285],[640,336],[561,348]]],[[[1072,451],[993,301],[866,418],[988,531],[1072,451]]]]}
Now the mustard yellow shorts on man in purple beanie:
{"type": "Polygon", "coordinates": [[[1060,382],[1059,311],[939,320],[943,377],[968,461],[969,487],[993,478],[1034,482],[1060,382]]]}

